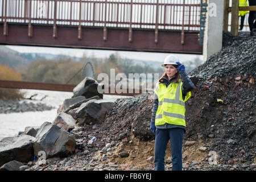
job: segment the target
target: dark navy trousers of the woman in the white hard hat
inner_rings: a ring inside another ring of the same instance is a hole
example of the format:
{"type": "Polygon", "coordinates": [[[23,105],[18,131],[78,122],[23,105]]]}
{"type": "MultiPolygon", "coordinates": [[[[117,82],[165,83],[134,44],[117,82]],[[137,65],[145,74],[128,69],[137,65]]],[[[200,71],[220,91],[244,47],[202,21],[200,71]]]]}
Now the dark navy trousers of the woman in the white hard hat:
{"type": "Polygon", "coordinates": [[[154,163],[156,171],[164,171],[164,156],[166,146],[171,142],[172,171],[182,170],[182,143],[184,129],[156,129],[155,131],[155,154],[154,163]]]}

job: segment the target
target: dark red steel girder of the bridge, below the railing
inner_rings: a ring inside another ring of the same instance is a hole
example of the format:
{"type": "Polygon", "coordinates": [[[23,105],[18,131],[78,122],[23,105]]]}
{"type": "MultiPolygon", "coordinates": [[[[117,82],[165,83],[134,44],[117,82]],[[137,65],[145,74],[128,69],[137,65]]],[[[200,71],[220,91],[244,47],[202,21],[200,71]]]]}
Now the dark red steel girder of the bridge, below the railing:
{"type": "Polygon", "coordinates": [[[77,26],[57,26],[57,36],[53,38],[53,26],[32,25],[32,36],[28,36],[27,23],[8,23],[7,36],[3,35],[4,24],[0,24],[0,44],[17,46],[45,46],[89,49],[112,49],[119,51],[147,51],[202,54],[196,31],[184,31],[184,44],[181,44],[181,31],[158,30],[158,43],[155,43],[155,30],[132,30],[129,42],[128,28],[107,28],[106,40],[101,27],[82,27],[81,39],[77,26]]]}

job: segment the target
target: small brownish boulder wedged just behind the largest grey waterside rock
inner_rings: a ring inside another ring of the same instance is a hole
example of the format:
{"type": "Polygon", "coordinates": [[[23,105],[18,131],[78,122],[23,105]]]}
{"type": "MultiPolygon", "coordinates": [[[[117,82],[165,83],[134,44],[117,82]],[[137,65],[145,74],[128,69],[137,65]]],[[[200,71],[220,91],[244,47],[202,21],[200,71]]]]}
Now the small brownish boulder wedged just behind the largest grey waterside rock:
{"type": "Polygon", "coordinates": [[[55,125],[61,127],[62,129],[66,131],[73,130],[76,125],[76,120],[72,118],[71,115],[66,113],[59,113],[55,120],[53,121],[55,125]]]}

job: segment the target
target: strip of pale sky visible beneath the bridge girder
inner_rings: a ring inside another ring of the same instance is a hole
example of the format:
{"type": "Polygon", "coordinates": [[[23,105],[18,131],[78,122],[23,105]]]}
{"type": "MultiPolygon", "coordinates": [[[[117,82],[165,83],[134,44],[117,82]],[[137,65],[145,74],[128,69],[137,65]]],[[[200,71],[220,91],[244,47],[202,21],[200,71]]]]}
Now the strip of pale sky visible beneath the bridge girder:
{"type": "MultiPolygon", "coordinates": [[[[8,48],[14,49],[20,53],[51,53],[55,55],[68,55],[81,57],[84,52],[90,57],[94,54],[95,57],[105,58],[109,57],[112,53],[118,52],[119,56],[123,59],[138,59],[138,60],[148,60],[148,61],[159,61],[163,62],[164,58],[170,53],[159,53],[159,52],[138,52],[138,51],[111,51],[111,50],[100,50],[100,49],[81,49],[81,48],[56,48],[56,47],[38,47],[38,46],[6,46],[8,48]]],[[[203,60],[203,55],[192,55],[192,54],[180,54],[172,53],[176,55],[180,62],[193,60],[196,57],[203,60]]]]}

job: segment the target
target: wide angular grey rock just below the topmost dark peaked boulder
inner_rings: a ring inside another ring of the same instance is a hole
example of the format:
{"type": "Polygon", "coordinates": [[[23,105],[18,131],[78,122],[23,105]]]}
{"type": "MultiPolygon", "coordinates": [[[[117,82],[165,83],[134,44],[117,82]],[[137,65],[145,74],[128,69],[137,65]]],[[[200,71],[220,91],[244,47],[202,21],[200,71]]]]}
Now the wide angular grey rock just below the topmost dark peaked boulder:
{"type": "Polygon", "coordinates": [[[105,119],[106,111],[113,106],[114,102],[110,100],[90,100],[81,104],[74,116],[76,119],[90,117],[95,123],[101,123],[105,119]]]}

